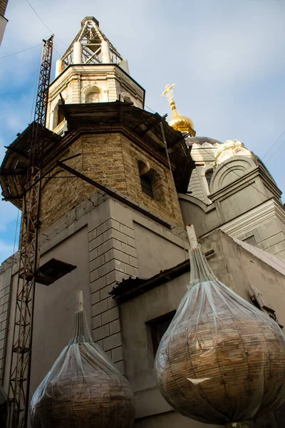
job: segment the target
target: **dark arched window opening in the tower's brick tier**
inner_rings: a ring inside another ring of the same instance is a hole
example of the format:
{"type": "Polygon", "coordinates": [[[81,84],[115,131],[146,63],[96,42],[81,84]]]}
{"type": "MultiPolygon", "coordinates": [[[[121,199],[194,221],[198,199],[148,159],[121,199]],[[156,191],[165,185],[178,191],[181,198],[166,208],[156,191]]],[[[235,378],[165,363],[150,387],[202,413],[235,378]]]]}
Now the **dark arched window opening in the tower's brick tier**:
{"type": "Polygon", "coordinates": [[[138,170],[140,173],[140,185],[142,192],[150,198],[160,200],[162,197],[162,186],[160,185],[160,175],[156,170],[150,168],[150,164],[138,161],[138,170]]]}

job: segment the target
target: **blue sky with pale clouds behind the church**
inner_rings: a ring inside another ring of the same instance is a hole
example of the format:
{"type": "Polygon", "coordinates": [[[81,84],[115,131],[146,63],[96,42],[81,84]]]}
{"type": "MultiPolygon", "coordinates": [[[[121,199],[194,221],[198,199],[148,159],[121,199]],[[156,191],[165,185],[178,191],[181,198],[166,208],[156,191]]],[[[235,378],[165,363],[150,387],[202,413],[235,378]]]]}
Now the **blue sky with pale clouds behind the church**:
{"type": "MultiPolygon", "coordinates": [[[[81,19],[95,16],[128,58],[131,75],[146,90],[147,106],[170,115],[160,95],[166,83],[176,83],[177,109],[192,118],[198,136],[239,139],[264,158],[285,190],[285,133],[266,154],[285,129],[285,1],[30,3],[55,34],[53,62],[76,36],[81,19]]],[[[9,0],[6,18],[0,47],[0,161],[4,146],[33,117],[41,46],[1,56],[41,44],[50,35],[25,0],[9,0]]],[[[0,263],[13,251],[16,217],[16,208],[0,201],[0,263]]]]}

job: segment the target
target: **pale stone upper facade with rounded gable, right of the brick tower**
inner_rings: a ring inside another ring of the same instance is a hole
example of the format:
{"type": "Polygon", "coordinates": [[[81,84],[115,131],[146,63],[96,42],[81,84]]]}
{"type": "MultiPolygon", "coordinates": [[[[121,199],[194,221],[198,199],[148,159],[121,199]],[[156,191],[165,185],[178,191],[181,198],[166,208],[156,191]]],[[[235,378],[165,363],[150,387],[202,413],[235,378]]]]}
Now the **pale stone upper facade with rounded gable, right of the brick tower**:
{"type": "Polygon", "coordinates": [[[281,191],[264,164],[237,140],[192,138],[197,162],[190,195],[180,195],[185,223],[202,237],[220,228],[234,238],[285,258],[285,208],[281,191]],[[212,157],[212,160],[211,160],[212,157]],[[203,174],[212,163],[209,185],[203,174]]]}

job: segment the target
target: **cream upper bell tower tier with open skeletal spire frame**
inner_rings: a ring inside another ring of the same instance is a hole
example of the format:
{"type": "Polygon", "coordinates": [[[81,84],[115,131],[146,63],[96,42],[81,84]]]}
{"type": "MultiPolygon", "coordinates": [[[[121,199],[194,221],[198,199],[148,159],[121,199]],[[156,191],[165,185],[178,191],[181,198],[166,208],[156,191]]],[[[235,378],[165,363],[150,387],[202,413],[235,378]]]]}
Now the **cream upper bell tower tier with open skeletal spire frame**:
{"type": "Polygon", "coordinates": [[[76,38],[56,61],[50,86],[48,128],[63,135],[66,120],[58,107],[71,103],[125,101],[143,108],[145,90],[131,76],[128,61],[110,43],[93,16],[81,21],[76,38]]]}

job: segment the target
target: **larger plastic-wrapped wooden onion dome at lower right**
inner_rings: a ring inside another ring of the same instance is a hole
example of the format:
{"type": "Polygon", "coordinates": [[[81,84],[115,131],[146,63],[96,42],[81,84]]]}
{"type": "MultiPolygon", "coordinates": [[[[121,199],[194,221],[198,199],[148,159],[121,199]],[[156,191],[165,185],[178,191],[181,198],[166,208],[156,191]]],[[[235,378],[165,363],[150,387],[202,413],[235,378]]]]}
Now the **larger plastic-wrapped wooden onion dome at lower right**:
{"type": "Polygon", "coordinates": [[[184,416],[247,427],[285,401],[285,336],[217,280],[192,226],[187,231],[190,286],[157,350],[157,384],[184,416]]]}

